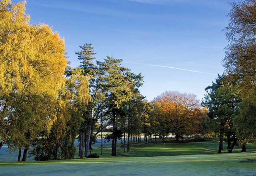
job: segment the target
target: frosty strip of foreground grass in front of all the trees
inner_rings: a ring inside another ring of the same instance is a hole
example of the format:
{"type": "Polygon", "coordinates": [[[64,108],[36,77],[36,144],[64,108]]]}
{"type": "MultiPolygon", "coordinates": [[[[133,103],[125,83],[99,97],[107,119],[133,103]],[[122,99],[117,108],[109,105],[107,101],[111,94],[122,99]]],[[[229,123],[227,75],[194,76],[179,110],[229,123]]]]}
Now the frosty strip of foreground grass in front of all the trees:
{"type": "Polygon", "coordinates": [[[256,153],[5,162],[3,176],[253,176],[256,153]]]}

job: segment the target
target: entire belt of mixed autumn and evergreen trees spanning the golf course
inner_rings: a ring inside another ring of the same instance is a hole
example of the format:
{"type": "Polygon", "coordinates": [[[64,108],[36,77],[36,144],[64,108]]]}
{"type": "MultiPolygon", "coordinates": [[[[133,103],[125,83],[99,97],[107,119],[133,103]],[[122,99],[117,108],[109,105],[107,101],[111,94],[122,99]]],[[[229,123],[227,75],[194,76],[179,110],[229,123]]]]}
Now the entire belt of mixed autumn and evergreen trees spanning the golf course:
{"type": "Polygon", "coordinates": [[[64,39],[46,24],[30,24],[25,5],[0,1],[0,150],[8,144],[18,161],[29,152],[35,160],[90,157],[99,136],[112,142],[113,156],[120,146],[129,152],[134,142],[170,138],[219,138],[218,153],[234,146],[244,152],[255,141],[256,0],[232,4],[225,72],[205,88],[202,102],[176,91],[148,102],[140,94],[142,74],[121,59],[97,60],[90,43],[78,47],[81,64],[72,68],[64,39]]]}

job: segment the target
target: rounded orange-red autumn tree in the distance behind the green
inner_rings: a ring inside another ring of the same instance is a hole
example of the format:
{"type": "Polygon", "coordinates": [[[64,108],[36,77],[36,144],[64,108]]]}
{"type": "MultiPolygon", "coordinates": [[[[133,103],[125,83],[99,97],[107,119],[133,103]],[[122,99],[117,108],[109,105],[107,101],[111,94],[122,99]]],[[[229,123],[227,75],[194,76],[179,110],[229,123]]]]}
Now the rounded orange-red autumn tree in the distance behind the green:
{"type": "Polygon", "coordinates": [[[162,128],[175,134],[176,140],[183,135],[198,134],[203,118],[199,100],[194,94],[166,91],[154,99],[159,107],[158,118],[162,128]]]}

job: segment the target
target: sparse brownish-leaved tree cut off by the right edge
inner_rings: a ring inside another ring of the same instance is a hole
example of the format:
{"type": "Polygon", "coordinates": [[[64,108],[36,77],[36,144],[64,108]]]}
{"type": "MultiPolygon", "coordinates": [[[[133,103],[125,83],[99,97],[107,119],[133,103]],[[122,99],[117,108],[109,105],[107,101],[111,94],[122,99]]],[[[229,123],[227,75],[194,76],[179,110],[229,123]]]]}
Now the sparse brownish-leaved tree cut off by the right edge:
{"type": "Polygon", "coordinates": [[[232,3],[226,27],[225,72],[231,86],[241,95],[236,131],[245,151],[246,142],[256,138],[256,0],[232,3]]]}

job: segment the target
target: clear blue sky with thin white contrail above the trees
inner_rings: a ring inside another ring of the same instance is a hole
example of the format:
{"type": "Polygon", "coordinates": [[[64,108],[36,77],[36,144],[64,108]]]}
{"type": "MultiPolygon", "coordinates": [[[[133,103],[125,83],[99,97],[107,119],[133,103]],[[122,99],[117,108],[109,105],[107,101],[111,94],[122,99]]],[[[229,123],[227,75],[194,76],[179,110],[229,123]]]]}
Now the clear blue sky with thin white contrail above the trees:
{"type": "MultiPolygon", "coordinates": [[[[17,2],[14,0],[13,2],[17,2]]],[[[92,43],[97,60],[121,58],[142,72],[148,100],[166,90],[194,93],[222,73],[228,0],[27,0],[31,23],[45,23],[65,38],[68,60],[92,43]]]]}

